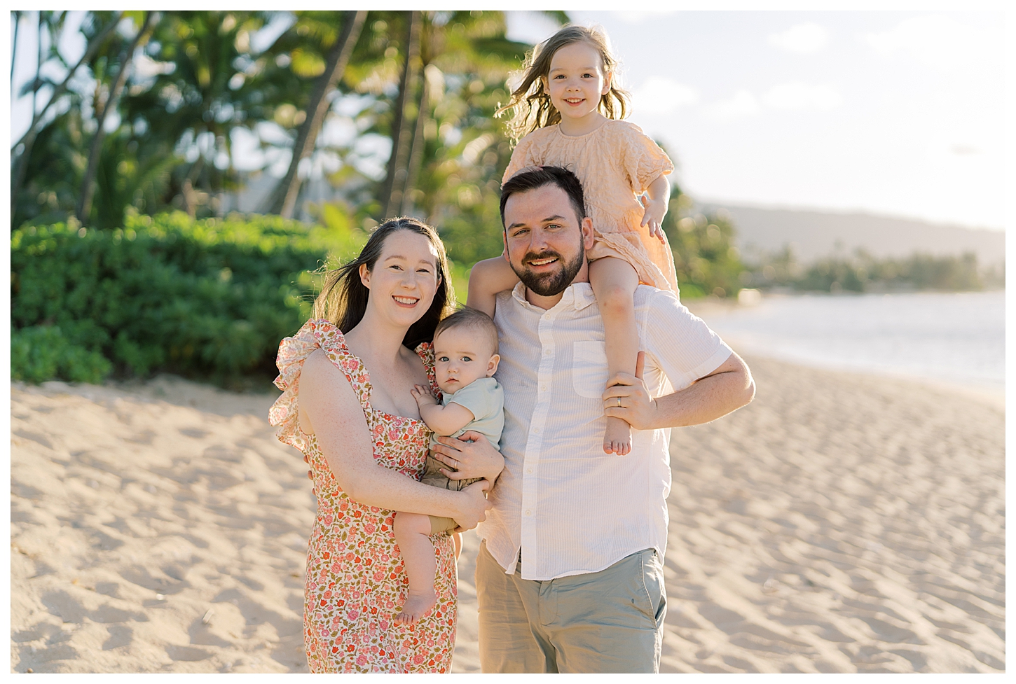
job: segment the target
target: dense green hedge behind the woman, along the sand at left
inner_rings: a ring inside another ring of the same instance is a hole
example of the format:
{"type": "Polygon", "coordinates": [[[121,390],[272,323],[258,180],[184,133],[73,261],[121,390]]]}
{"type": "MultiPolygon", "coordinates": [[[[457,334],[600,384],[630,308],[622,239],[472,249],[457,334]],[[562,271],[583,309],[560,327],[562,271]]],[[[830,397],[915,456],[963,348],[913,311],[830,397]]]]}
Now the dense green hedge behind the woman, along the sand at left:
{"type": "Polygon", "coordinates": [[[182,212],[128,217],[116,230],[19,228],[11,235],[12,374],[271,374],[279,339],[310,315],[312,272],[365,242],[335,225],[182,212]]]}

